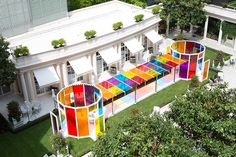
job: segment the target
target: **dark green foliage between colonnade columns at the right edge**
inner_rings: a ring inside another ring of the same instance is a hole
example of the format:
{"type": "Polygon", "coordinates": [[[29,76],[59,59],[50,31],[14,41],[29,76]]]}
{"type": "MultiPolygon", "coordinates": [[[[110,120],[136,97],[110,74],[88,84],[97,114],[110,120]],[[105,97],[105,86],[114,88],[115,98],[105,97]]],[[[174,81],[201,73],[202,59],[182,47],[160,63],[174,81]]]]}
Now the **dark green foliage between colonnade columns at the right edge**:
{"type": "Polygon", "coordinates": [[[234,39],[236,37],[236,24],[224,21],[222,23],[223,39],[227,37],[234,39]]]}

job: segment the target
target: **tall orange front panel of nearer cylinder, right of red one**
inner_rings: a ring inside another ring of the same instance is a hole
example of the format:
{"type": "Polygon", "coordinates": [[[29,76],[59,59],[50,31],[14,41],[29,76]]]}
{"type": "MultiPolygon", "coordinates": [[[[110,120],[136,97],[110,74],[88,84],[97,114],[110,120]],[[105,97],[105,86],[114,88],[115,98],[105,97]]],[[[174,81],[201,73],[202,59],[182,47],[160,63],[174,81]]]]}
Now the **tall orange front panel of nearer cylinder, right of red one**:
{"type": "Polygon", "coordinates": [[[76,110],[77,114],[77,125],[79,130],[79,136],[88,136],[88,110],[87,108],[81,108],[76,110]]]}

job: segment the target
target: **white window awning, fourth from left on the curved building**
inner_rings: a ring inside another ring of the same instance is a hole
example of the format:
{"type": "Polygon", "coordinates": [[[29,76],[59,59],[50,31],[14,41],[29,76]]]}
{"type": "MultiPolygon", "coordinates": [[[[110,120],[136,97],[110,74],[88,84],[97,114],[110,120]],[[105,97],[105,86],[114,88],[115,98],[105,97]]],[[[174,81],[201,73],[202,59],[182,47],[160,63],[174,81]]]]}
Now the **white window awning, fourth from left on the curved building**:
{"type": "Polygon", "coordinates": [[[144,50],[142,44],[135,38],[125,41],[124,44],[133,55],[144,50]]]}

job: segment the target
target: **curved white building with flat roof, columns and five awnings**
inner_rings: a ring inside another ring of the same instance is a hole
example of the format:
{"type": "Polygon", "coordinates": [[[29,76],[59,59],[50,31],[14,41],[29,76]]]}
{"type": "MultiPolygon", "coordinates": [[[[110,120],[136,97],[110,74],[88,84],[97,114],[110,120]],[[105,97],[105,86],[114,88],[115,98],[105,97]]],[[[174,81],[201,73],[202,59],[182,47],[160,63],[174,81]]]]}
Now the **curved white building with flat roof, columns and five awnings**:
{"type": "Polygon", "coordinates": [[[0,88],[0,99],[4,94],[17,94],[32,101],[73,82],[96,83],[107,78],[111,66],[121,72],[144,62],[149,47],[158,52],[161,19],[148,10],[114,0],[68,15],[8,39],[12,49],[27,46],[30,55],[16,59],[17,81],[10,88],[0,88]],[[143,21],[135,22],[137,14],[144,15],[143,21]],[[112,25],[119,21],[124,26],[114,31],[112,25]],[[96,37],[86,40],[84,32],[92,29],[96,37]],[[60,38],[66,46],[54,49],[51,41],[60,38]],[[131,56],[135,56],[134,65],[129,63],[131,56]]]}

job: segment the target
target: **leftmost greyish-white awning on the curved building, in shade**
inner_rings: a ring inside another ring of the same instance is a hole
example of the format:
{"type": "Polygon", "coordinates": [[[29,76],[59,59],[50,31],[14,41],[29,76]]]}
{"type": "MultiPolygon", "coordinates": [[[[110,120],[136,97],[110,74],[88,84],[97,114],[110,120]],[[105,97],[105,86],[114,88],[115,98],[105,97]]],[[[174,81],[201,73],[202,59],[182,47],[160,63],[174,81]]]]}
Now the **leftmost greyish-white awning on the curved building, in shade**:
{"type": "Polygon", "coordinates": [[[34,70],[39,87],[53,85],[60,80],[53,66],[34,70]]]}

